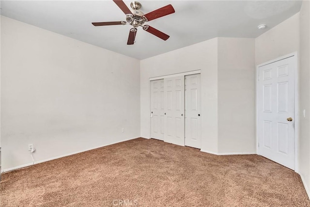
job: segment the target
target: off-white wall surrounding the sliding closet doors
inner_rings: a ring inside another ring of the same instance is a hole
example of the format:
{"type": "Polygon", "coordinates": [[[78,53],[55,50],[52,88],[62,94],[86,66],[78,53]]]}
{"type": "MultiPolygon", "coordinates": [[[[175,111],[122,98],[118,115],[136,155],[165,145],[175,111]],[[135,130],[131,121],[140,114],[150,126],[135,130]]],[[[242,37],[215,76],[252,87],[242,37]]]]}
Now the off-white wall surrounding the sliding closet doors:
{"type": "Polygon", "coordinates": [[[217,38],[140,62],[141,137],[149,138],[149,78],[201,70],[202,149],[217,152],[217,38]]]}

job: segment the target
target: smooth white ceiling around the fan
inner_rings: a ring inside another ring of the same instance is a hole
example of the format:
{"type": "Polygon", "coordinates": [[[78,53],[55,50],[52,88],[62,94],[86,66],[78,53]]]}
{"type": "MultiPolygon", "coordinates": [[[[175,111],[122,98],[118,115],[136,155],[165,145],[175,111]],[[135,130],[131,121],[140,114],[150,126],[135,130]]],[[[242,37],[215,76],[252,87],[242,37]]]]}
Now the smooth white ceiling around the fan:
{"type": "MultiPolygon", "coordinates": [[[[124,1],[130,8],[130,2],[124,1]]],[[[147,14],[172,4],[175,13],[148,22],[170,35],[167,41],[138,28],[136,43],[126,45],[132,26],[94,27],[91,22],[125,21],[112,0],[1,0],[1,15],[52,32],[106,48],[133,58],[145,59],[214,37],[255,38],[299,12],[293,0],[139,0],[147,14]],[[257,26],[267,24],[264,30],[257,26]]]]}

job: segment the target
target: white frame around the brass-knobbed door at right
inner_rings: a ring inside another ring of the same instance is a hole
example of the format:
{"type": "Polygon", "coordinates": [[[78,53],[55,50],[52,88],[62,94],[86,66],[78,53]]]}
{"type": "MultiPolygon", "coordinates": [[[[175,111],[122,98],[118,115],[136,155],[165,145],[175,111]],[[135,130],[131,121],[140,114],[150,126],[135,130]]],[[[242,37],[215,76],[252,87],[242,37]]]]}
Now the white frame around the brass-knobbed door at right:
{"type": "Polygon", "coordinates": [[[259,67],[264,66],[266,64],[271,64],[278,62],[280,60],[294,57],[294,171],[298,173],[298,57],[297,52],[293,52],[287,55],[283,55],[279,58],[273,59],[271,61],[267,61],[263,64],[256,65],[256,101],[255,101],[255,108],[256,108],[256,154],[259,154],[259,136],[258,136],[258,118],[259,118],[259,111],[258,111],[258,76],[259,76],[259,67]]]}

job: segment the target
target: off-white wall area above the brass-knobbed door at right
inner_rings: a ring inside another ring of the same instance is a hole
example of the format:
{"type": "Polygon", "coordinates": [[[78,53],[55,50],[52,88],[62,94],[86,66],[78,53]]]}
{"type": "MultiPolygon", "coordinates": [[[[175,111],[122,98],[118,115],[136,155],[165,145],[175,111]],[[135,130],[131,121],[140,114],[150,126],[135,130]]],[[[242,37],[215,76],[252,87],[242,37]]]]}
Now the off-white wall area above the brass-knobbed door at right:
{"type": "Polygon", "coordinates": [[[255,39],[256,65],[298,51],[299,13],[255,39]]]}

